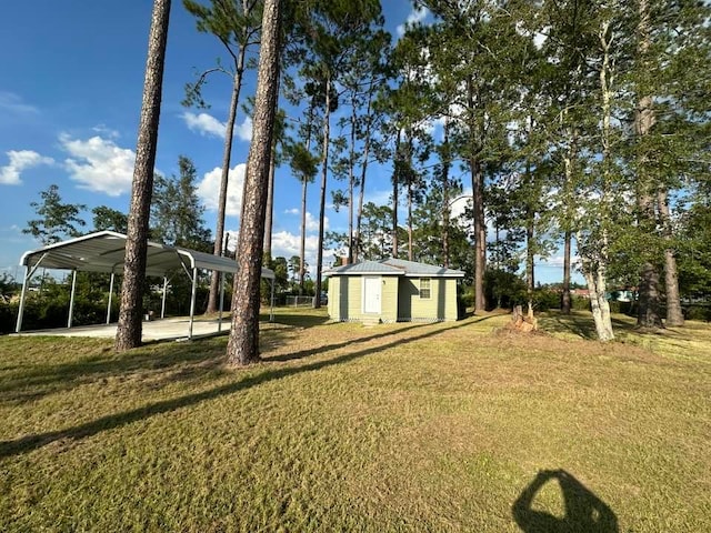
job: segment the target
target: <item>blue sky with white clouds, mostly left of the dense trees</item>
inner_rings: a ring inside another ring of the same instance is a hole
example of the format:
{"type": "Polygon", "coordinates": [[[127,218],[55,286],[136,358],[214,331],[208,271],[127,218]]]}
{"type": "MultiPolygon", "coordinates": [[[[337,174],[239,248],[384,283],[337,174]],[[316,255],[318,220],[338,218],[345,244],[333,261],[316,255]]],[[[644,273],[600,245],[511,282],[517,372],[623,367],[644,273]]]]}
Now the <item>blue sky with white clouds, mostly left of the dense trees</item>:
{"type": "MultiPolygon", "coordinates": [[[[20,257],[41,244],[22,233],[36,218],[31,202],[51,184],[66,203],[86,204],[82,218],[91,228],[91,209],[108,205],[128,211],[148,31],[152,2],[79,2],[34,0],[6,2],[0,19],[0,273],[20,280],[20,257]]],[[[405,21],[425,21],[408,0],[385,0],[385,27],[397,39],[405,21]]],[[[224,58],[212,36],[199,33],[182,2],[173,0],[160,117],[156,169],[178,174],[179,155],[198,169],[198,194],[214,232],[224,122],[231,82],[214,74],[206,88],[209,109],[184,108],[184,86],[224,58]]],[[[243,97],[254,91],[249,74],[243,97]]],[[[226,228],[239,228],[239,205],[251,122],[242,110],[236,127],[226,228]]],[[[390,169],[369,170],[365,200],[389,201],[390,169]]],[[[299,254],[300,182],[288,165],[274,180],[272,255],[299,254]]],[[[316,264],[319,187],[308,198],[307,262],[316,264]]],[[[327,202],[330,193],[327,197],[327,202]]],[[[346,231],[347,210],[327,209],[327,230],[346,231]]],[[[333,261],[324,254],[324,266],[333,261]]],[[[537,272],[541,282],[561,278],[558,258],[537,272]]]]}

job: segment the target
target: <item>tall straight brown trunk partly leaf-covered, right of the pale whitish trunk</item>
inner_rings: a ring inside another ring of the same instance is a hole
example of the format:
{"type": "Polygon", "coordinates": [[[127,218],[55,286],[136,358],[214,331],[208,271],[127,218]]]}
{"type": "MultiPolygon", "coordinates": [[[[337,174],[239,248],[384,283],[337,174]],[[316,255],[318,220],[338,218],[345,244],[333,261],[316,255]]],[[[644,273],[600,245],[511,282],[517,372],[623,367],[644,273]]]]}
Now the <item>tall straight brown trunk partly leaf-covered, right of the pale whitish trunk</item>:
{"type": "MultiPolygon", "coordinates": [[[[650,13],[648,0],[638,0],[639,21],[637,26],[637,51],[639,68],[642,73],[647,73],[647,58],[650,48],[650,13]]],[[[645,78],[645,77],[643,77],[645,78]]],[[[637,112],[634,117],[634,132],[638,141],[649,135],[655,122],[653,98],[648,94],[645,83],[640,82],[643,94],[639,97],[637,112]]],[[[640,142],[638,142],[639,144],[640,142]]],[[[644,150],[642,148],[642,150],[644,150]]],[[[654,213],[654,185],[649,171],[650,161],[645,153],[638,154],[638,224],[644,233],[654,233],[657,225],[657,217],[654,213]]],[[[649,255],[648,251],[642,252],[649,255]]],[[[645,257],[642,261],[639,283],[639,309],[637,323],[642,328],[659,328],[662,321],[659,312],[659,271],[654,261],[645,257]]]]}

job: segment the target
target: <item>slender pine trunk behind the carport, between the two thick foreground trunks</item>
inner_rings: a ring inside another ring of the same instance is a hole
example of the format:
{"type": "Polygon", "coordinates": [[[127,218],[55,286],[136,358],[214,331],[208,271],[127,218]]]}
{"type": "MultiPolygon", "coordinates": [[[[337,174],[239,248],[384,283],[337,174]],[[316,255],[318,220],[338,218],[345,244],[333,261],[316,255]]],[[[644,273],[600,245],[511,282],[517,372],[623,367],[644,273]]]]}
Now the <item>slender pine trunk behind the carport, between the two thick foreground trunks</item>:
{"type": "MultiPolygon", "coordinates": [[[[242,89],[242,74],[244,72],[244,54],[246,48],[240,47],[234,78],[232,80],[232,98],[230,100],[230,110],[227,118],[227,124],[224,130],[224,148],[222,150],[222,173],[220,174],[220,195],[218,198],[218,224],[214,230],[214,248],[212,253],[214,255],[221,255],[223,250],[224,239],[224,218],[227,211],[227,187],[230,175],[230,162],[232,158],[232,140],[234,137],[234,122],[237,122],[237,107],[240,103],[240,91],[242,89]]],[[[242,198],[244,202],[244,198],[242,198]]],[[[241,223],[241,219],[240,219],[241,223]]],[[[216,313],[219,308],[218,299],[220,298],[220,272],[212,271],[210,276],[210,293],[208,295],[207,313],[216,313]]]]}

